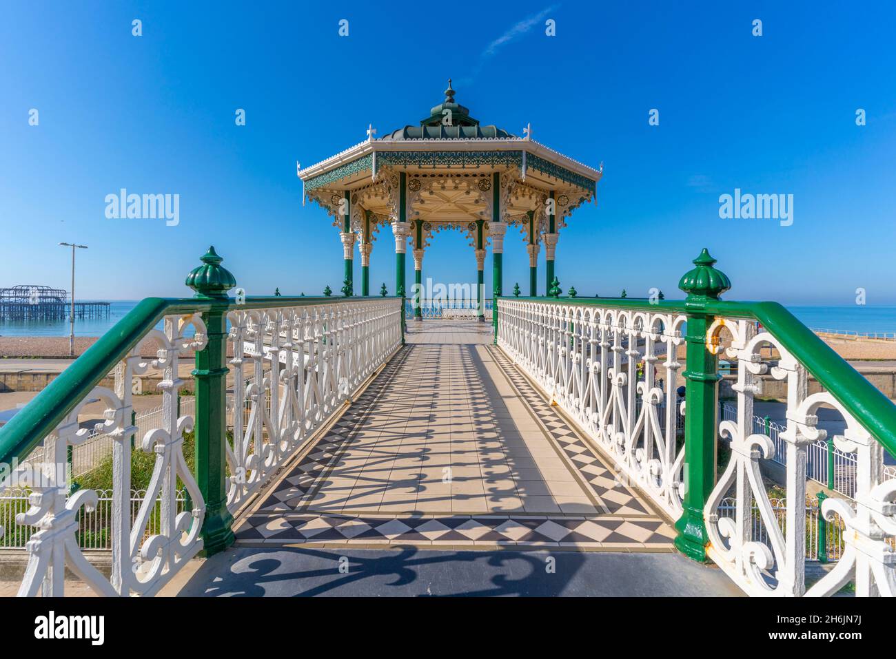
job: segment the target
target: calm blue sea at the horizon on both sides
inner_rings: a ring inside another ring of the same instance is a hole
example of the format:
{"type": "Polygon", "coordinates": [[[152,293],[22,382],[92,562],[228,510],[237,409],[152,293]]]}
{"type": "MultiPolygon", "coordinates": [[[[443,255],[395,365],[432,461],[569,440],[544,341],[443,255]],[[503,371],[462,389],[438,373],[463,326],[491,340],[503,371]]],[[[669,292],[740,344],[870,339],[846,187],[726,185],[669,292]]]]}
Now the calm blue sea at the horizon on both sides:
{"type": "MultiPolygon", "coordinates": [[[[116,322],[137,304],[137,300],[116,300],[109,303],[106,318],[75,320],[74,334],[77,337],[99,337],[111,329],[116,322]]],[[[798,306],[788,305],[788,310],[811,329],[829,329],[858,334],[896,334],[896,306],[867,304],[858,306],[798,306]]],[[[159,323],[161,329],[161,323],[159,323]]],[[[41,323],[0,322],[0,336],[4,337],[67,337],[68,321],[41,323]]]]}

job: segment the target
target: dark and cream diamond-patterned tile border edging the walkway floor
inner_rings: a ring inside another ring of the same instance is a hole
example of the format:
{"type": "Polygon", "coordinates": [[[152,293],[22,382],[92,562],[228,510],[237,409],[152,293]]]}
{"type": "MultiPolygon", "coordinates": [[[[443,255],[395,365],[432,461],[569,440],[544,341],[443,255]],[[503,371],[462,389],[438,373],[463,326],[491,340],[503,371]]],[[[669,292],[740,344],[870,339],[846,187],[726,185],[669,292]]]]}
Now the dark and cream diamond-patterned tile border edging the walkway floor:
{"type": "Polygon", "coordinates": [[[552,546],[578,551],[673,552],[674,529],[642,498],[616,480],[614,472],[541,397],[530,381],[497,347],[487,346],[505,377],[532,413],[569,468],[581,476],[609,515],[346,515],[307,511],[332,465],[348,448],[376,400],[390,389],[408,360],[402,347],[383,371],[314,443],[280,482],[235,525],[237,545],[346,544],[423,545],[495,548],[552,546]]]}

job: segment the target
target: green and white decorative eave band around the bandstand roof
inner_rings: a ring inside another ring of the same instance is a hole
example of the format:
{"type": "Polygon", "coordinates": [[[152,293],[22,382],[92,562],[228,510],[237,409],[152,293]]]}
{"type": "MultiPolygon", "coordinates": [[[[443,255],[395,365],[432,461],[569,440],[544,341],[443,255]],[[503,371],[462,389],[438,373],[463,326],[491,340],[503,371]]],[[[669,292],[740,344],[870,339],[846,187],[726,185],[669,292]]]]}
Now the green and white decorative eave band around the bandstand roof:
{"type": "Polygon", "coordinates": [[[463,164],[523,167],[596,192],[602,169],[587,167],[537,141],[521,138],[476,140],[363,141],[298,171],[306,193],[361,172],[372,178],[381,165],[452,167],[463,164]]]}

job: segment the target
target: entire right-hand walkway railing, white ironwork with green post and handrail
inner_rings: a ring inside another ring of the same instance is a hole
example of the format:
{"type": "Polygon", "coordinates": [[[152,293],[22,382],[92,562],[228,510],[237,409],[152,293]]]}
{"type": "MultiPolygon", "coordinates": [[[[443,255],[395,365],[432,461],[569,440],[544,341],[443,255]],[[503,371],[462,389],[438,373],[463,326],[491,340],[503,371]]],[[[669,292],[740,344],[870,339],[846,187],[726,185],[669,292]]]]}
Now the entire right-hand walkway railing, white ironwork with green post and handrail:
{"type": "Polygon", "coordinates": [[[501,297],[496,343],[620,476],[677,520],[676,547],[685,555],[711,559],[749,595],[834,595],[850,581],[856,595],[896,595],[896,478],[883,469],[883,449],[896,454],[896,406],[780,304],[720,300],[730,281],[715,262],[706,250],[694,260],[679,283],[683,301],[501,297]],[[723,339],[737,360],[737,400],[735,418],[719,423],[723,339]],[[667,344],[664,361],[653,353],[657,342],[667,344]],[[683,344],[684,364],[677,356],[683,344]],[[676,427],[679,373],[684,441],[667,430],[676,427]],[[822,392],[808,393],[810,374],[822,392]],[[754,430],[762,375],[787,382],[783,516],[759,468],[775,454],[771,438],[754,430]],[[856,487],[854,501],[822,503],[825,521],[843,529],[843,549],[835,568],[807,588],[806,449],[825,438],[820,407],[845,421],[833,443],[855,455],[856,487]],[[721,474],[719,433],[729,440],[721,474]]]}

